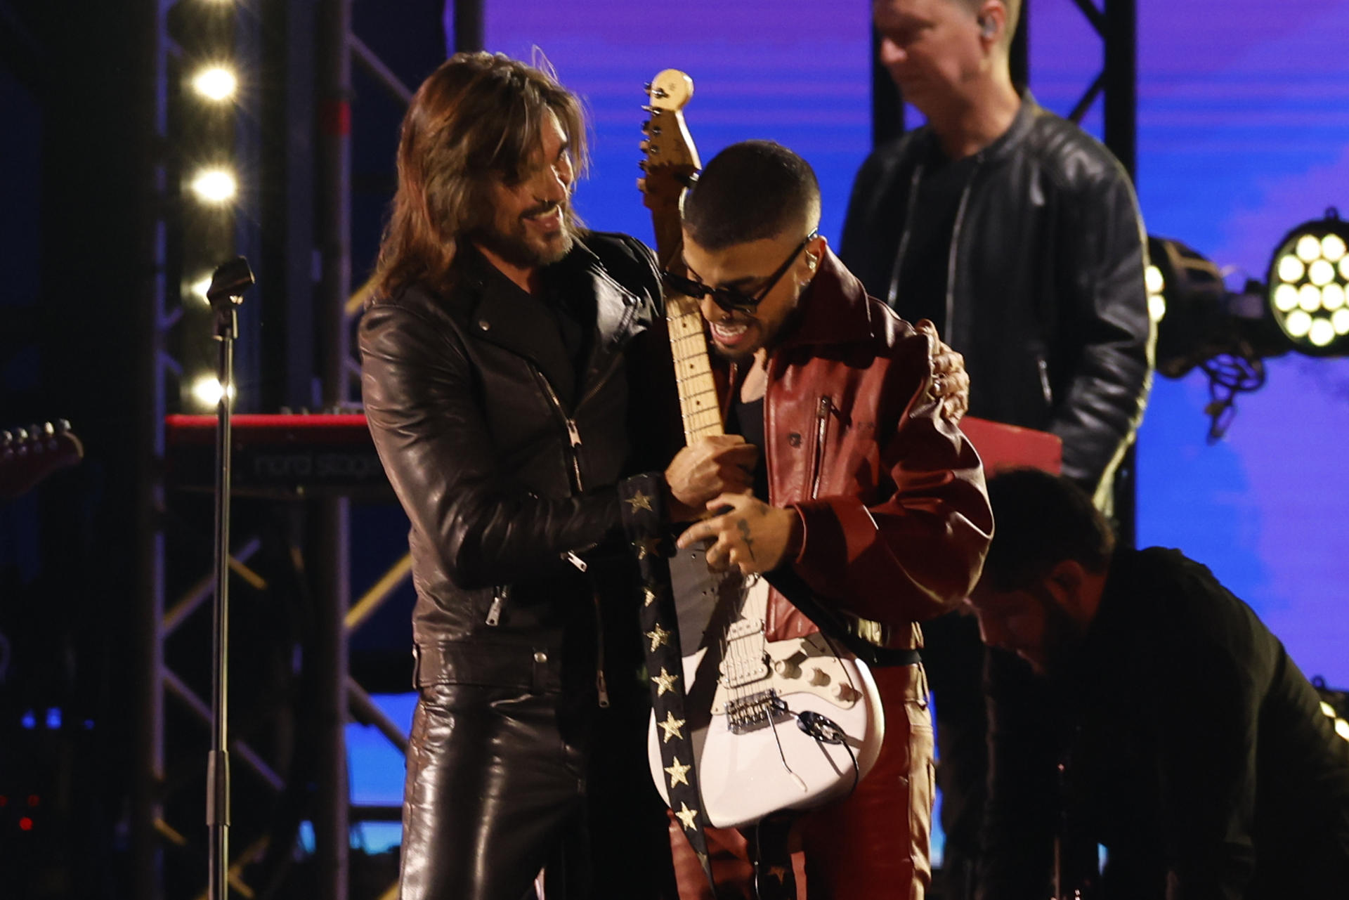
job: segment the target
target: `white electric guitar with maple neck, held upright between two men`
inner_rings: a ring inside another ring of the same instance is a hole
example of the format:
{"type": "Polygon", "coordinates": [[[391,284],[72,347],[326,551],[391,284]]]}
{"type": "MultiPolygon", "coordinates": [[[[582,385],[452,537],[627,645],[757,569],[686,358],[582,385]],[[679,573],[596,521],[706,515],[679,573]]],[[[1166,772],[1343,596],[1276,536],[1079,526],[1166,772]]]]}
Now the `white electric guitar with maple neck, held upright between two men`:
{"type": "MultiPolygon", "coordinates": [[[[639,182],[662,267],[680,266],[680,197],[700,167],[683,108],[693,81],[666,69],[649,88],[639,182]]],[[[684,437],[723,433],[697,304],[666,293],[684,437]]],[[[847,795],[881,749],[885,719],[866,665],[823,634],[768,641],[768,582],[714,573],[701,548],[670,560],[684,652],[685,714],[703,811],[718,827],[847,795]]],[[[661,729],[652,718],[652,777],[666,803],[661,729]]]]}

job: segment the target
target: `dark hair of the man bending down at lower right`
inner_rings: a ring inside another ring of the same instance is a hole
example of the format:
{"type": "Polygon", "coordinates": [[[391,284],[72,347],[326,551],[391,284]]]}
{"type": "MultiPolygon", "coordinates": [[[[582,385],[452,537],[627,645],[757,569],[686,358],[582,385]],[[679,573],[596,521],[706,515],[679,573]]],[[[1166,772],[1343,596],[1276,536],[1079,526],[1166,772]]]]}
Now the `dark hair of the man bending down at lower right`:
{"type": "Polygon", "coordinates": [[[996,591],[1027,588],[1064,560],[1105,572],[1114,532],[1086,491],[1058,475],[1013,468],[989,479],[993,544],[983,580],[996,591]]]}

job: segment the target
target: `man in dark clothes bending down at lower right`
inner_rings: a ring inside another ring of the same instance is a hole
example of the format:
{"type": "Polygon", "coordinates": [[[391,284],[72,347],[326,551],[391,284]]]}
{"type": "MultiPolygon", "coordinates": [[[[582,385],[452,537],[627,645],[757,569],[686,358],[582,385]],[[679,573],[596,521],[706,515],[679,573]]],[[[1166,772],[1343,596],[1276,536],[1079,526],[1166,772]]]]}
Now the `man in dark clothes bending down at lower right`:
{"type": "Polygon", "coordinates": [[[1279,640],[1180,552],[1114,546],[1064,479],[1006,472],[989,495],[970,602],[1052,703],[1028,721],[992,698],[978,896],[1342,896],[1349,741],[1279,640]]]}

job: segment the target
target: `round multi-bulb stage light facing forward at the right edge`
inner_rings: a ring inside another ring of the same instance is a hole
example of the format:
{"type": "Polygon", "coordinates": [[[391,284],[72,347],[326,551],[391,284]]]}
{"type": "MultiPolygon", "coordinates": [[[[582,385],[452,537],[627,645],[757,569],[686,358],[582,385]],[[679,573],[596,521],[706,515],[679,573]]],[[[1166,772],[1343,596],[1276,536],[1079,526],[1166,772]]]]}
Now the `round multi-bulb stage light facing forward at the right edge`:
{"type": "Polygon", "coordinates": [[[1269,259],[1269,312],[1294,349],[1317,356],[1346,354],[1346,293],[1349,223],[1327,209],[1325,219],[1303,223],[1279,242],[1269,259]]]}

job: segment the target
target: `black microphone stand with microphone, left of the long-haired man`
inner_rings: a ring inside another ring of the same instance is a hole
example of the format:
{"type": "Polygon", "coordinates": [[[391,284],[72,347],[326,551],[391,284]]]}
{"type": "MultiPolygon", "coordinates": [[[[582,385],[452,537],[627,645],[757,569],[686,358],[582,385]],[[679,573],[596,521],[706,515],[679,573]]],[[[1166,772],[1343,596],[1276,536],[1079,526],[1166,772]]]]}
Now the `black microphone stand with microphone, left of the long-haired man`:
{"type": "Polygon", "coordinates": [[[214,337],[220,341],[220,401],[216,403],[216,603],[212,629],[210,753],[206,757],[206,828],[210,833],[206,860],[210,866],[206,896],[229,896],[229,407],[233,399],[235,337],[239,306],[254,283],[248,260],[235,256],[210,277],[206,300],[216,313],[214,337]]]}

